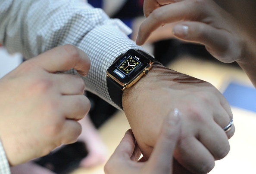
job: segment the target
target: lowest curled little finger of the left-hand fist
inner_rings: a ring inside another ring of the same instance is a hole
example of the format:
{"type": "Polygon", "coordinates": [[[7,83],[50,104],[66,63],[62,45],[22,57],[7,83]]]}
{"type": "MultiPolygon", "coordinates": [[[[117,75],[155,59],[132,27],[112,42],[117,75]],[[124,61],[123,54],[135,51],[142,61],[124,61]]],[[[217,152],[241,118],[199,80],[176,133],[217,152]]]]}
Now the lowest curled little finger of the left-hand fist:
{"type": "Polygon", "coordinates": [[[81,131],[82,127],[77,121],[67,119],[59,136],[61,144],[75,143],[81,131]]]}

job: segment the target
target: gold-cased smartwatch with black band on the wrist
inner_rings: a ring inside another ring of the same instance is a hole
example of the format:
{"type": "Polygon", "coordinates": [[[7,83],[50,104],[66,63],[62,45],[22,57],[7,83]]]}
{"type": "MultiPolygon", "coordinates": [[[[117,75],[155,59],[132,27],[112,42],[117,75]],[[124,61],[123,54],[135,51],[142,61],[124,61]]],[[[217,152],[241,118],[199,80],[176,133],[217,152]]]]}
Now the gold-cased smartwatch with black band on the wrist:
{"type": "Polygon", "coordinates": [[[161,63],[143,51],[130,49],[110,65],[107,69],[106,81],[109,96],[117,106],[123,109],[123,91],[134,85],[142,76],[147,75],[152,64],[161,63]]]}

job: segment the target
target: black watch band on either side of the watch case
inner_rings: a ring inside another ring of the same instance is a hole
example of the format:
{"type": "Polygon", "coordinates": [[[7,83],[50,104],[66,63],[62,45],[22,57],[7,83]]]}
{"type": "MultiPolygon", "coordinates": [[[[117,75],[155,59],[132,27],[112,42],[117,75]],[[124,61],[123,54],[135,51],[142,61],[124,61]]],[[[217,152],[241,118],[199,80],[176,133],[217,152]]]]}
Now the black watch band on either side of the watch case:
{"type": "MultiPolygon", "coordinates": [[[[140,50],[135,50],[135,51],[137,51],[138,53],[140,53],[141,55],[143,55],[144,57],[152,61],[154,64],[161,64],[158,60],[148,55],[147,53],[140,50]]],[[[124,92],[123,86],[119,85],[115,80],[111,79],[110,77],[106,78],[106,81],[107,81],[110,98],[117,106],[119,106],[123,110],[123,106],[122,106],[122,95],[124,92]]]]}

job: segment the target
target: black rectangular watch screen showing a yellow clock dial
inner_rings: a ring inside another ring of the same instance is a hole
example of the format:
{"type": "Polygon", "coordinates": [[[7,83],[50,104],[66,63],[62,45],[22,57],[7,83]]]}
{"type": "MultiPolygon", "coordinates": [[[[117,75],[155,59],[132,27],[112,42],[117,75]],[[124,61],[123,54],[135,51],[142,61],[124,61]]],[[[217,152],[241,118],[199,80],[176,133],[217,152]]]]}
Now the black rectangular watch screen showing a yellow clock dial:
{"type": "Polygon", "coordinates": [[[135,50],[129,50],[118,58],[107,70],[121,83],[127,84],[150,66],[150,60],[135,50]]]}

